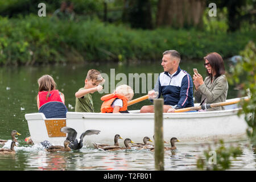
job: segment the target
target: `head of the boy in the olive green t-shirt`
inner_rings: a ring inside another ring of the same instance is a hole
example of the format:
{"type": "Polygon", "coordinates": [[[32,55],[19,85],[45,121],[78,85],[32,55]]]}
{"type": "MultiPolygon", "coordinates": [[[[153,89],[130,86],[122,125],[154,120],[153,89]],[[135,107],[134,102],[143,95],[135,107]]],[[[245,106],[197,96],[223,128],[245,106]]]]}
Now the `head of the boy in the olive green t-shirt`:
{"type": "Polygon", "coordinates": [[[98,86],[98,84],[103,81],[104,78],[102,78],[99,71],[97,71],[96,69],[90,69],[85,78],[85,87],[86,89],[93,88],[95,86],[98,86]]]}

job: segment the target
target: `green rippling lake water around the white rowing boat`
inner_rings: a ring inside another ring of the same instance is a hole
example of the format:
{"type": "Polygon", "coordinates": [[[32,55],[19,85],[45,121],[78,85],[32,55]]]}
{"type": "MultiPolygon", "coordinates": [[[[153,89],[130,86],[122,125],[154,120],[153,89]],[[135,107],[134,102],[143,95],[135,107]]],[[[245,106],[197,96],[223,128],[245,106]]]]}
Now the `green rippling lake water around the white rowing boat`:
{"type": "MultiPolygon", "coordinates": [[[[197,68],[199,73],[205,77],[203,61],[181,61],[181,69],[192,74],[192,69],[197,68]]],[[[31,146],[24,142],[30,135],[26,113],[38,112],[36,106],[36,95],[38,93],[37,80],[44,74],[52,75],[57,89],[65,95],[65,105],[69,111],[75,111],[75,92],[84,86],[84,79],[89,69],[98,69],[102,73],[110,75],[114,73],[145,73],[151,79],[154,87],[154,73],[163,71],[159,63],[140,63],[130,65],[118,64],[85,64],[85,65],[51,65],[42,67],[1,67],[0,68],[0,139],[9,140],[3,147],[10,147],[10,133],[17,130],[20,134],[16,136],[19,145],[15,147],[15,155],[0,155],[0,170],[154,170],[154,152],[147,150],[126,150],[105,152],[92,147],[84,146],[80,151],[48,153],[40,145],[31,146]],[[113,72],[114,71],[114,72],[113,72]],[[153,75],[153,77],[150,77],[153,75]]],[[[226,67],[227,68],[227,67],[226,67]]],[[[119,75],[120,76],[120,75],[119,75]]],[[[122,76],[122,75],[121,75],[122,76]]],[[[119,81],[115,79],[115,84],[119,81]]],[[[109,83],[110,84],[110,83],[109,83]]],[[[135,87],[135,83],[134,83],[135,87]]],[[[109,85],[109,91],[111,85],[109,85]]],[[[148,91],[148,90],[146,90],[148,91]]],[[[134,98],[141,97],[146,93],[135,93],[134,98]]],[[[229,88],[228,98],[236,97],[236,90],[229,88]]],[[[104,94],[94,93],[94,110],[100,111],[100,97],[104,94]]],[[[150,105],[146,100],[129,107],[130,110],[140,109],[143,105],[150,105]]],[[[132,137],[131,137],[132,138],[132,137]]],[[[86,139],[86,138],[85,138],[86,139]]],[[[249,140],[226,143],[239,144],[243,148],[243,154],[238,158],[232,158],[230,170],[255,170],[256,157],[251,149],[249,140]]],[[[213,144],[212,148],[214,148],[213,144]]],[[[196,162],[207,145],[202,143],[177,143],[177,151],[166,151],[164,154],[165,170],[197,170],[196,162]]]]}

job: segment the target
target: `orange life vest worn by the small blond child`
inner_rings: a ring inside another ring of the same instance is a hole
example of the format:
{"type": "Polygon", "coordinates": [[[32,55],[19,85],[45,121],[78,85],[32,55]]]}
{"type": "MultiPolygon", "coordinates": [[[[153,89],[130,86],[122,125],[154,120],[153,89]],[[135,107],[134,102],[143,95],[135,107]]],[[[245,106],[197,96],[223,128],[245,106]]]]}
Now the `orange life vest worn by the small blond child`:
{"type": "Polygon", "coordinates": [[[113,107],[111,105],[116,98],[119,98],[123,101],[123,107],[120,108],[119,111],[126,111],[128,98],[122,94],[110,93],[101,97],[101,100],[104,101],[101,105],[101,113],[113,113],[113,107]]]}

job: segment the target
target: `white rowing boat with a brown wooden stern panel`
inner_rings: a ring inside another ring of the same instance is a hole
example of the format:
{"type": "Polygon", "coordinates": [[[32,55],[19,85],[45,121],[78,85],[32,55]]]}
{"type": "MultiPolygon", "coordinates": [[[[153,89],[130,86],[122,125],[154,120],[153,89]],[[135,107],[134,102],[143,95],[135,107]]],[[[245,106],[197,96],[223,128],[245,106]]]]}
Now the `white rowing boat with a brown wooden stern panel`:
{"type": "MultiPolygon", "coordinates": [[[[245,115],[237,115],[241,108],[236,107],[229,105],[226,110],[220,111],[164,113],[164,140],[170,142],[172,137],[183,142],[244,139],[248,126],[245,115]]],[[[67,118],[48,119],[43,113],[32,113],[25,114],[25,118],[34,143],[49,140],[52,144],[63,145],[67,134],[60,129],[64,126],[75,129],[77,138],[89,129],[101,131],[98,135],[86,136],[85,145],[91,142],[114,144],[115,134],[134,142],[142,142],[143,137],[153,138],[154,135],[154,113],[139,113],[139,110],[130,111],[129,114],[68,112],[67,118]]],[[[119,143],[123,144],[121,141],[119,143]]]]}

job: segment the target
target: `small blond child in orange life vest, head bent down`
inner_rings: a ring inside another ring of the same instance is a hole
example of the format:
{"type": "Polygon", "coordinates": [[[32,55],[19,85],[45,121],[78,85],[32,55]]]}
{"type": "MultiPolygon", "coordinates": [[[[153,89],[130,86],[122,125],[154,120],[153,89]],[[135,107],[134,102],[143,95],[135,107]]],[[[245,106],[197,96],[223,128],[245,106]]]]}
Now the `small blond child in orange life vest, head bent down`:
{"type": "Polygon", "coordinates": [[[101,113],[129,113],[127,101],[133,98],[134,92],[128,85],[120,85],[114,93],[101,97],[104,101],[101,105],[101,113]]]}

